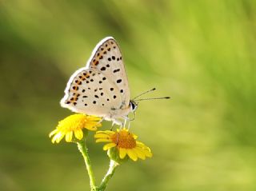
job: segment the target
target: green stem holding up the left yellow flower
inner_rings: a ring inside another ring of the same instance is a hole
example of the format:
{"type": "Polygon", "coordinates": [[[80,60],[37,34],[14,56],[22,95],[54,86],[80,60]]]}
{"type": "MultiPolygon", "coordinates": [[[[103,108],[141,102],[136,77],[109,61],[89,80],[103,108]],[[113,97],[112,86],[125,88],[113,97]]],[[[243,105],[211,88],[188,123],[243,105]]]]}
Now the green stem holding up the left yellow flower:
{"type": "Polygon", "coordinates": [[[95,185],[95,178],[94,178],[94,173],[93,170],[91,168],[91,163],[90,163],[90,157],[88,154],[88,149],[86,146],[86,142],[85,141],[80,141],[77,142],[78,143],[78,150],[82,153],[82,157],[86,163],[86,169],[90,178],[90,190],[91,191],[96,191],[96,185],[95,185]]]}

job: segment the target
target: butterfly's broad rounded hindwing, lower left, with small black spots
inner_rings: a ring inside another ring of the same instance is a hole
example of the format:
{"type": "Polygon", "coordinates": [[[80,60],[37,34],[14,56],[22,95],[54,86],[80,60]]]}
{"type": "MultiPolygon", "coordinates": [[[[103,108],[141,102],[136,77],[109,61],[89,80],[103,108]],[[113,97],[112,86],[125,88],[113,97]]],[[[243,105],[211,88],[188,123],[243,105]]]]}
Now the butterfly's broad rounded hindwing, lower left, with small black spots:
{"type": "Polygon", "coordinates": [[[117,90],[100,70],[82,68],[67,83],[61,105],[74,112],[104,117],[121,106],[122,97],[117,90]]]}

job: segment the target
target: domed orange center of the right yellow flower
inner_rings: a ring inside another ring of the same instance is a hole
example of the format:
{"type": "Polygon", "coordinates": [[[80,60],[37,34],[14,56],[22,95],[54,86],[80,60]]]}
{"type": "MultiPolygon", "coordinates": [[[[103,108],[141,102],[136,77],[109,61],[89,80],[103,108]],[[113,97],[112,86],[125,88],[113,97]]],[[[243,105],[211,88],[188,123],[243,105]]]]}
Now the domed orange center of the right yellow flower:
{"type": "Polygon", "coordinates": [[[119,148],[133,149],[136,147],[136,141],[133,134],[126,130],[120,130],[119,132],[114,133],[111,139],[119,148]]]}

